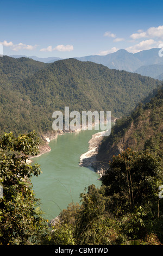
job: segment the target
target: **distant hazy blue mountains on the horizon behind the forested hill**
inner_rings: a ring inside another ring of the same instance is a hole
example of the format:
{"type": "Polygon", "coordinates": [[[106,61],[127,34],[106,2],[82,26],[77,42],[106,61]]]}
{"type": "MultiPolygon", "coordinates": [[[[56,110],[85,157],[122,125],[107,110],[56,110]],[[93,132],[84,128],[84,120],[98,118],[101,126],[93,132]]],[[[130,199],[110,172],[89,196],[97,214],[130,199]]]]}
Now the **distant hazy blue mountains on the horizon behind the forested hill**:
{"type": "MultiPolygon", "coordinates": [[[[91,55],[85,57],[74,57],[82,62],[94,62],[107,66],[109,69],[125,70],[135,72],[143,76],[150,76],[155,79],[163,79],[163,57],[159,56],[160,48],[152,48],[137,53],[130,53],[126,50],[118,50],[105,56],[91,55]]],[[[20,58],[27,56],[13,55],[10,57],[20,58]]],[[[29,56],[39,62],[52,63],[61,60],[58,57],[39,58],[29,56]]]]}

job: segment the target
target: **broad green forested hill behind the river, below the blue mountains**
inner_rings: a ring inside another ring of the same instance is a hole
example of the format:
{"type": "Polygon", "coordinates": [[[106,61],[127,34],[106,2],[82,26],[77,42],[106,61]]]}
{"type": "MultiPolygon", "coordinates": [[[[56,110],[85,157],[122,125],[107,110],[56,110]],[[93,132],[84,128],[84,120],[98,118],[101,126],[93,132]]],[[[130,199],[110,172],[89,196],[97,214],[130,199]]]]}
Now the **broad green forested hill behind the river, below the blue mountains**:
{"type": "Polygon", "coordinates": [[[77,59],[52,64],[29,58],[0,58],[1,133],[39,135],[52,130],[52,113],[64,111],[111,111],[127,115],[161,82],[153,78],[110,70],[77,59]]]}

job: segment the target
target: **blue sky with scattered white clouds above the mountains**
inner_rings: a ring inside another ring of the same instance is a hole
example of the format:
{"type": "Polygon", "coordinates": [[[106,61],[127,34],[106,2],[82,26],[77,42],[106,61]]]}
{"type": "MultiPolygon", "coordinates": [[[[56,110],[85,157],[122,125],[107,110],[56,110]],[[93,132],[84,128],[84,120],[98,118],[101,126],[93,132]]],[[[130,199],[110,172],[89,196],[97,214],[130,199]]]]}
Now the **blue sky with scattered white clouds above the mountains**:
{"type": "Polygon", "coordinates": [[[4,55],[72,58],[163,43],[163,1],[0,1],[4,55]]]}

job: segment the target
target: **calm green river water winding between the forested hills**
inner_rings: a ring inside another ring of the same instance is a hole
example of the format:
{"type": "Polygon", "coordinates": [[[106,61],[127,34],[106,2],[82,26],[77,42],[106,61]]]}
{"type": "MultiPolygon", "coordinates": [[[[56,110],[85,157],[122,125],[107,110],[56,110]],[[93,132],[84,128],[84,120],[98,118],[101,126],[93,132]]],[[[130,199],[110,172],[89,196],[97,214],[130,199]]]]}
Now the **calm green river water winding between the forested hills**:
{"type": "Polygon", "coordinates": [[[91,184],[101,186],[99,175],[80,167],[80,156],[89,149],[89,140],[98,131],[80,131],[59,135],[49,143],[51,151],[33,159],[42,173],[33,177],[33,190],[41,199],[41,209],[48,220],[58,216],[70,203],[80,202],[80,193],[91,184]]]}

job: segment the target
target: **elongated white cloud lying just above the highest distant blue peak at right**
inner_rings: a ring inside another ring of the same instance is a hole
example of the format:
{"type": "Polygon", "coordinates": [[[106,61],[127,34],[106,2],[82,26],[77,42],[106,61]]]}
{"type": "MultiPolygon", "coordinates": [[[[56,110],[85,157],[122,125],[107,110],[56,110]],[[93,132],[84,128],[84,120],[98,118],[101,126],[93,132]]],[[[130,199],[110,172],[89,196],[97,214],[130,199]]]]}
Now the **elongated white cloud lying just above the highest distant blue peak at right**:
{"type": "Polygon", "coordinates": [[[149,40],[143,40],[141,42],[139,42],[139,44],[136,44],[134,46],[130,46],[130,47],[127,47],[126,50],[128,52],[132,52],[132,53],[136,53],[136,52],[140,52],[140,51],[143,51],[143,50],[149,50],[151,48],[154,48],[156,47],[157,45],[157,42],[153,39],[149,39],[149,40]]]}

